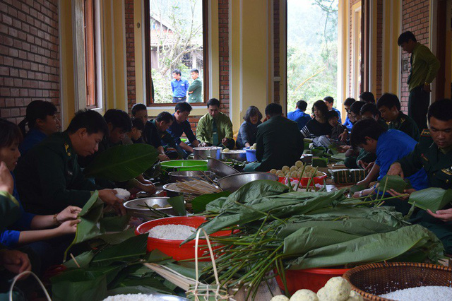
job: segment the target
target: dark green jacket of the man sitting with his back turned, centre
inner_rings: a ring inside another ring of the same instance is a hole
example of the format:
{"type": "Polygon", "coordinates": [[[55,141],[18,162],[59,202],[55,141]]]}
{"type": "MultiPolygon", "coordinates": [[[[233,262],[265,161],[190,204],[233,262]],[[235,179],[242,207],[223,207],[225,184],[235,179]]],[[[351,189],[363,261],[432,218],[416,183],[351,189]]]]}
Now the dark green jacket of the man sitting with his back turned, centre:
{"type": "Polygon", "coordinates": [[[257,127],[256,171],[280,170],[292,166],[302,156],[304,143],[296,122],[282,116],[268,119],[257,127]]]}

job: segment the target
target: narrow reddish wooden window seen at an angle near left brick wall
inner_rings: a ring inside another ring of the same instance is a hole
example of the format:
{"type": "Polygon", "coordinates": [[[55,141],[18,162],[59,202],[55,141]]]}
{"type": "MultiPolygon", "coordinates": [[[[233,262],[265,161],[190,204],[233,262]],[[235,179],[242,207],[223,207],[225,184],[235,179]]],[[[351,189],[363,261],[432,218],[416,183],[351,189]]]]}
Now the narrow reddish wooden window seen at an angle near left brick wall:
{"type": "Polygon", "coordinates": [[[84,0],[86,107],[97,107],[95,59],[95,0],[84,0]]]}

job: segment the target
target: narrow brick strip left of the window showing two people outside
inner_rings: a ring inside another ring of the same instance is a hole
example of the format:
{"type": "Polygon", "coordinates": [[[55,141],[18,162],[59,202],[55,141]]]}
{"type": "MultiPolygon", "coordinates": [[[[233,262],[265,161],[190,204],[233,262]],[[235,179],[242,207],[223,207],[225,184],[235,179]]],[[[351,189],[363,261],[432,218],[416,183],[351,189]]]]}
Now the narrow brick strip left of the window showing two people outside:
{"type": "Polygon", "coordinates": [[[133,0],[125,0],[124,5],[126,14],[127,107],[129,114],[131,114],[132,106],[136,104],[133,0]]]}

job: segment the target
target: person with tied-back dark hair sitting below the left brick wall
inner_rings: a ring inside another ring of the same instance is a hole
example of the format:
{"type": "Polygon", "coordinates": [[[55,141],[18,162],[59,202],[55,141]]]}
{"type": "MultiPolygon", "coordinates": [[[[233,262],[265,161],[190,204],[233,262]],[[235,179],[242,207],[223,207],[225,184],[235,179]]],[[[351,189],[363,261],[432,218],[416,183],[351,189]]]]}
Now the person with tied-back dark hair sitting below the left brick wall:
{"type": "Polygon", "coordinates": [[[30,148],[59,130],[60,123],[56,113],[57,107],[52,102],[44,100],[30,102],[25,119],[19,123],[20,131],[25,137],[19,146],[21,155],[25,155],[30,148]],[[27,126],[28,132],[26,131],[27,126]]]}

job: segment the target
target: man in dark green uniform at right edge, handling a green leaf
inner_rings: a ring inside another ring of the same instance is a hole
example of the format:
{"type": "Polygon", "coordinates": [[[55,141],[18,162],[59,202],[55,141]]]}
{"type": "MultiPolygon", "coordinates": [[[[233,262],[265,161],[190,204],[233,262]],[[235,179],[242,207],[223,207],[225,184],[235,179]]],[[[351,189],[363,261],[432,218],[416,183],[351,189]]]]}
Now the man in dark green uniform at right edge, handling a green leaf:
{"type": "MultiPolygon", "coordinates": [[[[438,100],[429,107],[429,130],[422,131],[414,151],[391,165],[388,175],[408,177],[421,168],[431,187],[452,188],[452,101],[438,100]]],[[[412,189],[405,191],[411,193],[412,189]]],[[[397,195],[395,191],[392,193],[397,195]]],[[[412,223],[420,223],[441,239],[446,253],[452,254],[451,203],[443,210],[417,213],[412,223]],[[428,214],[427,214],[428,213],[428,214]]]]}

